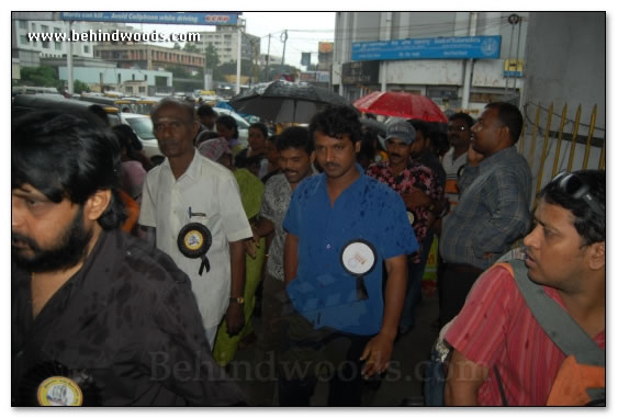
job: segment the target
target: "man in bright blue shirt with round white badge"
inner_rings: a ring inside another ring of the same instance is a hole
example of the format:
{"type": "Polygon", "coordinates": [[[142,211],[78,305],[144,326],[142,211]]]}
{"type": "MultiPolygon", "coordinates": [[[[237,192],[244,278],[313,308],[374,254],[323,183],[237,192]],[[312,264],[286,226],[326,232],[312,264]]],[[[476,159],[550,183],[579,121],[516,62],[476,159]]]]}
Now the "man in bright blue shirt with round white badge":
{"type": "Polygon", "coordinates": [[[418,245],[403,200],[356,165],[361,125],[349,107],[310,124],[324,173],[294,191],[283,228],[292,310],[282,342],[282,406],[307,406],[327,374],[329,406],[360,406],[363,378],[389,365],[418,245]],[[386,284],[383,295],[383,271],[386,284]]]}

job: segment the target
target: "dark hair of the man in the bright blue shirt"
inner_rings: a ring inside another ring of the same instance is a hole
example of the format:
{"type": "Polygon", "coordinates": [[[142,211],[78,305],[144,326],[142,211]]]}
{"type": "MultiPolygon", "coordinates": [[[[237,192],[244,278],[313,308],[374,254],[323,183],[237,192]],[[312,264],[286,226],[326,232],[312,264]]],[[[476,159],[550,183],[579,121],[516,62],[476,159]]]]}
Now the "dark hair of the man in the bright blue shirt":
{"type": "Polygon", "coordinates": [[[348,134],[352,144],[360,141],[362,138],[358,113],[346,105],[326,106],[326,109],[313,116],[308,131],[312,140],[316,132],[338,139],[342,139],[344,135],[348,134]]]}

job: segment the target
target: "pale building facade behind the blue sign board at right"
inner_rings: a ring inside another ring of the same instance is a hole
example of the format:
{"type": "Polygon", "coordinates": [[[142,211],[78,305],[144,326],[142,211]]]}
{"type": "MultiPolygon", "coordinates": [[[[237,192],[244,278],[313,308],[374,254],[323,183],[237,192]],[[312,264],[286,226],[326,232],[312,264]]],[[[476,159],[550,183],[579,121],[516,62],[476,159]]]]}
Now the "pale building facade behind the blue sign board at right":
{"type": "Polygon", "coordinates": [[[517,100],[523,73],[507,73],[505,64],[526,60],[528,15],[527,12],[338,12],[332,83],[350,100],[374,90],[406,91],[427,95],[443,109],[465,107],[473,114],[498,97],[517,100]],[[355,43],[391,45],[394,41],[429,43],[479,36],[499,36],[497,56],[352,59],[355,43]]]}

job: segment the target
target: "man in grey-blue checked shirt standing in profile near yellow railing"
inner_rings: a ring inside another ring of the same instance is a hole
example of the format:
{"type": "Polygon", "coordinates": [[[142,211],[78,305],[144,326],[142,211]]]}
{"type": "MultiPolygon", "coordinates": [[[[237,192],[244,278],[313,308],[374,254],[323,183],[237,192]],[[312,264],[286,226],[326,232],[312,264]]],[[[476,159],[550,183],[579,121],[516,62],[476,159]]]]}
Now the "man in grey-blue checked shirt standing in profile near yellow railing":
{"type": "Polygon", "coordinates": [[[472,126],[459,204],[442,222],[441,325],[463,307],[481,273],[527,233],[532,177],[515,149],[523,124],[517,106],[494,102],[472,126]]]}

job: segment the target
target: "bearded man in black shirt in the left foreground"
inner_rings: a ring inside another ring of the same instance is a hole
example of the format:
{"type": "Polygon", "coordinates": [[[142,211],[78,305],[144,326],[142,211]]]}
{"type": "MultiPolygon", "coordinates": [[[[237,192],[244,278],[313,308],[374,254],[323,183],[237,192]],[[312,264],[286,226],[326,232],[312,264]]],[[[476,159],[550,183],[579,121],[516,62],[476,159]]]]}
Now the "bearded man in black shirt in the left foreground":
{"type": "Polygon", "coordinates": [[[12,136],[12,405],[237,405],[190,282],[124,235],[120,147],[88,114],[12,136]]]}

